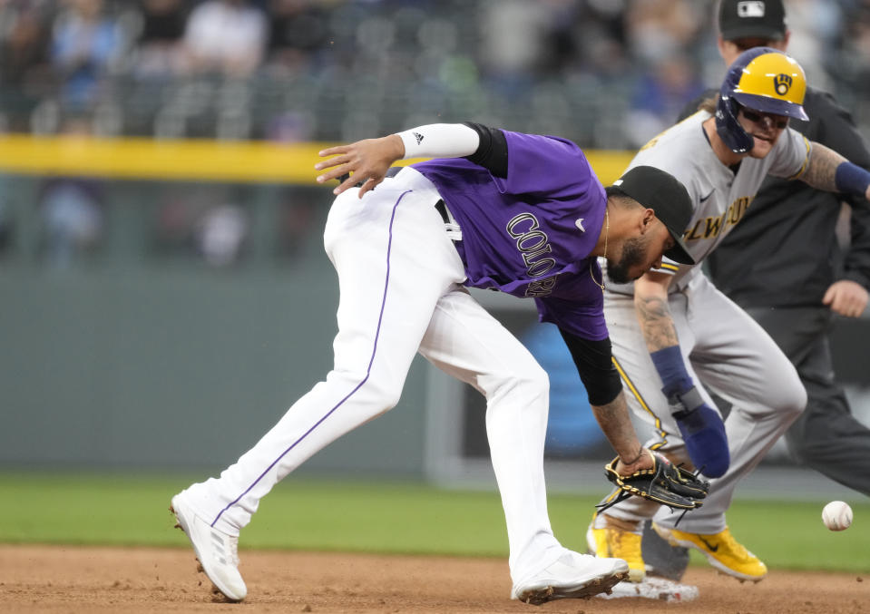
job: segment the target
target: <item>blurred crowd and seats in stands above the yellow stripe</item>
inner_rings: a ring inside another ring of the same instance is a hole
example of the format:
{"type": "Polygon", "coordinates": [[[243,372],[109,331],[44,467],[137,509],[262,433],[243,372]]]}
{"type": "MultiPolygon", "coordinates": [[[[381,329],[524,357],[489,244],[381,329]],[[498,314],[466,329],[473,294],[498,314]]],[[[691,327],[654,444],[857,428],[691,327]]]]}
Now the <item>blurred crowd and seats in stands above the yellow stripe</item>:
{"type": "MultiPolygon", "coordinates": [[[[810,82],[865,100],[870,2],[787,4],[810,82]]],[[[346,141],[474,117],[629,149],[720,79],[714,5],[0,0],[0,129],[346,141]]]]}

